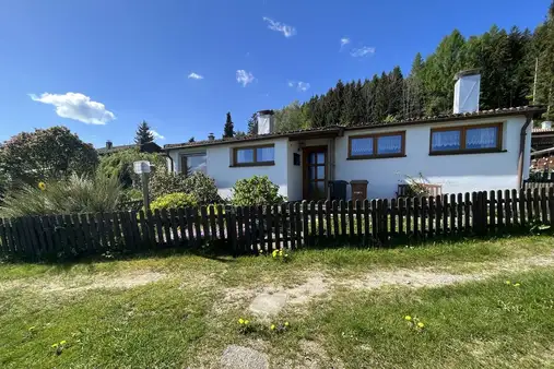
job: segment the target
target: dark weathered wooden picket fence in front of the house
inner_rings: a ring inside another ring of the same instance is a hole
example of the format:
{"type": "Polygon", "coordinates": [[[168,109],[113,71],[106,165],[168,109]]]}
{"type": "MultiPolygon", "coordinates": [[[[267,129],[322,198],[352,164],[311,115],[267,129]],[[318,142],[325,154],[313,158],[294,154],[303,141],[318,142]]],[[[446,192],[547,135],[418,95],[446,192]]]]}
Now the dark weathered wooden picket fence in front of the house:
{"type": "Polygon", "coordinates": [[[201,206],[144,213],[66,214],[0,219],[0,253],[27,260],[166,247],[229,254],[279,248],[386,247],[428,239],[554,229],[554,189],[481,191],[373,201],[201,206]]]}

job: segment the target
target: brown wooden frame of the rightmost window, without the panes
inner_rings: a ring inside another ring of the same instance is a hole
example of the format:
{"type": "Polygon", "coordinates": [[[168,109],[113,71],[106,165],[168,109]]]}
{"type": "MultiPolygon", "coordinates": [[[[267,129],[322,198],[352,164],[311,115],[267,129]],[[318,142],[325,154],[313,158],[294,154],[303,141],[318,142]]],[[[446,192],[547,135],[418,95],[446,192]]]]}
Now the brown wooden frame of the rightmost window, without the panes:
{"type": "Polygon", "coordinates": [[[485,123],[485,124],[469,124],[469,126],[453,126],[453,127],[437,127],[432,128],[429,132],[429,155],[464,155],[464,154],[486,154],[486,153],[500,153],[503,152],[504,141],[504,123],[485,123]],[[465,138],[468,130],[475,128],[496,128],[496,146],[486,148],[465,148],[465,138]],[[433,133],[435,132],[449,132],[460,131],[460,148],[458,150],[433,150],[433,133]]]}

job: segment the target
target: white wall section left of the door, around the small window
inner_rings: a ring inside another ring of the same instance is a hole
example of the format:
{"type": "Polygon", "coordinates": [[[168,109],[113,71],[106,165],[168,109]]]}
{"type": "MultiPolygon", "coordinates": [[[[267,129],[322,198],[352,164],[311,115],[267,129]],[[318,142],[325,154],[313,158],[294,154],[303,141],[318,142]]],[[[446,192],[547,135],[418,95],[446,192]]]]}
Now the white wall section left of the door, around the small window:
{"type": "Polygon", "coordinates": [[[279,184],[279,193],[288,197],[288,182],[287,182],[287,164],[292,163],[288,160],[288,139],[274,140],[275,144],[275,165],[272,166],[259,166],[259,167],[231,167],[232,164],[232,151],[234,147],[251,146],[257,144],[267,144],[266,142],[247,142],[237,143],[234,145],[214,145],[208,146],[208,176],[215,180],[220,195],[224,199],[231,197],[231,189],[235,182],[243,178],[249,178],[252,176],[268,176],[269,179],[279,184]]]}

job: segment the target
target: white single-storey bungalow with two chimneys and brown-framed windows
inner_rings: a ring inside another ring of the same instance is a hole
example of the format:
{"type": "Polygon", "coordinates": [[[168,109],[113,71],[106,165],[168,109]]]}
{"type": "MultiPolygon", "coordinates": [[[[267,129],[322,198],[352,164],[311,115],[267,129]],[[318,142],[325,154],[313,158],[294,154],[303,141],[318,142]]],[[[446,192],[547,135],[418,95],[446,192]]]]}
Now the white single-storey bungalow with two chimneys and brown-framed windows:
{"type": "Polygon", "coordinates": [[[275,133],[273,112],[262,110],[257,135],[211,134],[164,150],[172,170],[205,171],[224,198],[254,175],[268,176],[291,201],[327,198],[331,180],[367,181],[368,199],[393,198],[406,176],[420,174],[443,193],[519,188],[529,176],[532,119],[545,110],[479,111],[479,74],[457,75],[451,115],[275,133]]]}

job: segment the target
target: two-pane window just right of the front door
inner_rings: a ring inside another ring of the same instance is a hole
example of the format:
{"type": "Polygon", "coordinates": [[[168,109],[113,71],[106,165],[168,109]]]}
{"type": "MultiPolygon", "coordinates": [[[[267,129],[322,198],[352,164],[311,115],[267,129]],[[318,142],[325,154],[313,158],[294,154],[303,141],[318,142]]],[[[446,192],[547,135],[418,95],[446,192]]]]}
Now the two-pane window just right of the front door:
{"type": "Polygon", "coordinates": [[[349,159],[401,156],[405,156],[405,131],[349,138],[349,159]]]}

